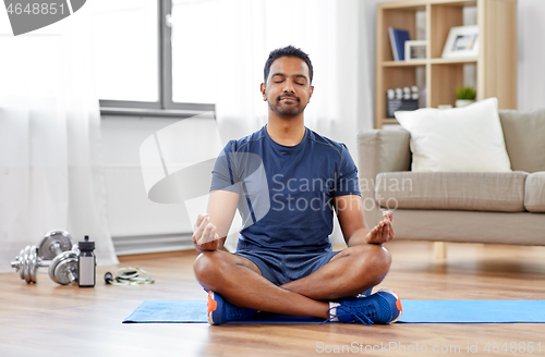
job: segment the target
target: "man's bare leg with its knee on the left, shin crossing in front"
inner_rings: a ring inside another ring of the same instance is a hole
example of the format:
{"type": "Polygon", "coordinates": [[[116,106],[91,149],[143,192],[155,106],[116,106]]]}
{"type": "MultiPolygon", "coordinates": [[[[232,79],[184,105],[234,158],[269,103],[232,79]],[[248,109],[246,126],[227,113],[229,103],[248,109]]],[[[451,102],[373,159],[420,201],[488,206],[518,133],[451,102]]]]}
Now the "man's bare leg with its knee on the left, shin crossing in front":
{"type": "Polygon", "coordinates": [[[203,287],[221,295],[229,303],[256,310],[329,318],[329,304],[279,287],[262,276],[250,260],[226,251],[201,254],[193,264],[203,287]]]}

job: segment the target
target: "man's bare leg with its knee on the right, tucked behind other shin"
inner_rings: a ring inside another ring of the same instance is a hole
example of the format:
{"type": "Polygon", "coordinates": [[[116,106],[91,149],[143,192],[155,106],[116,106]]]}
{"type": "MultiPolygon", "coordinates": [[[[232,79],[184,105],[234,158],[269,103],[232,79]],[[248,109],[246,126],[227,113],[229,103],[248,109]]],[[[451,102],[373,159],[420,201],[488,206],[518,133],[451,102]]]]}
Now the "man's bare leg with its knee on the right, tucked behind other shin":
{"type": "Polygon", "coordinates": [[[315,300],[353,296],[380,283],[390,263],[390,254],[379,245],[354,246],[337,254],[311,275],[280,287],[315,300]]]}

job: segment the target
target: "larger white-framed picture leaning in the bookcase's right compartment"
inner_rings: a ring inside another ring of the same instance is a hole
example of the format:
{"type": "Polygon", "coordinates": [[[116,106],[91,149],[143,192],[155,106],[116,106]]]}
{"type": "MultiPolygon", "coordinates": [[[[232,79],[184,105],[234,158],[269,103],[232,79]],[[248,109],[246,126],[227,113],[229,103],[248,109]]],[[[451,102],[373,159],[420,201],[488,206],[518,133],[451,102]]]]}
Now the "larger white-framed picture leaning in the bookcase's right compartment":
{"type": "Polygon", "coordinates": [[[451,27],[443,49],[443,58],[476,57],[479,54],[479,26],[451,27]]]}

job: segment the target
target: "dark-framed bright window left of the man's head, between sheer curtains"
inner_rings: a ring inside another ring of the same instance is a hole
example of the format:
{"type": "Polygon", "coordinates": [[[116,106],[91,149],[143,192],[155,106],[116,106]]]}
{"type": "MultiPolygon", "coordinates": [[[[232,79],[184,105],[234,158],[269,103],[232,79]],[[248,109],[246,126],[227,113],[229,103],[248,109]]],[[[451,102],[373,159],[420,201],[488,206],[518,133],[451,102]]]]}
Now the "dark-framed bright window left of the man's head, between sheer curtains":
{"type": "Polygon", "coordinates": [[[217,0],[92,4],[96,90],[102,109],[214,110],[217,0]]]}

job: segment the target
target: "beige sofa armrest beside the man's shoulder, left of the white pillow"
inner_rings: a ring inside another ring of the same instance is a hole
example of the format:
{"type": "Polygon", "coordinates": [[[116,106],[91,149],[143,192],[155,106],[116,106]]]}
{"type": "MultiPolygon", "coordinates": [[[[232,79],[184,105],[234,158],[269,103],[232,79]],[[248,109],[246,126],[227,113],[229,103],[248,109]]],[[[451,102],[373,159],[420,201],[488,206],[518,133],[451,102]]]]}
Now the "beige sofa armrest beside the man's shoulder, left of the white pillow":
{"type": "Polygon", "coordinates": [[[362,197],[374,197],[374,183],[380,172],[409,171],[409,132],[373,130],[358,134],[358,170],[362,197]]]}

